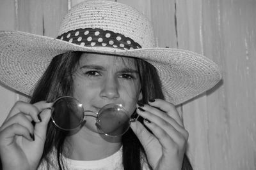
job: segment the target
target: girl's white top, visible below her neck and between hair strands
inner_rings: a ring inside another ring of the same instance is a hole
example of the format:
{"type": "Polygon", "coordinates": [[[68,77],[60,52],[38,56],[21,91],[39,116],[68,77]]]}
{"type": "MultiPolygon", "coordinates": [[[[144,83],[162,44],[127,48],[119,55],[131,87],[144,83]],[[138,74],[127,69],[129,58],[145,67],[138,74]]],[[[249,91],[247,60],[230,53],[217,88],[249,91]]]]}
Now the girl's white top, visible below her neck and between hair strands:
{"type": "MultiPolygon", "coordinates": [[[[53,155],[52,155],[53,156],[53,155]]],[[[58,162],[53,158],[54,165],[51,165],[50,169],[58,169],[58,162]]],[[[122,170],[124,169],[122,164],[122,147],[113,155],[100,160],[72,160],[66,157],[63,158],[65,169],[72,170],[122,170]]],[[[40,164],[38,170],[46,170],[47,166],[44,163],[40,164]]],[[[143,170],[149,169],[147,164],[143,162],[143,170]]]]}

